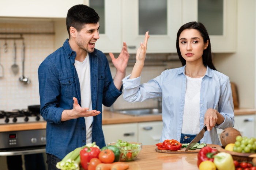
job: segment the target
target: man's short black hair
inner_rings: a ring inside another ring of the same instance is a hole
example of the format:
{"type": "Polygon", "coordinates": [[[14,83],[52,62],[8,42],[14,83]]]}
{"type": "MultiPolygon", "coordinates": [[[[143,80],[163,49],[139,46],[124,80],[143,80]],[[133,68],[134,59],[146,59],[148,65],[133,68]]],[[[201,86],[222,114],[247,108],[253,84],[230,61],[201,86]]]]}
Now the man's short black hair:
{"type": "Polygon", "coordinates": [[[98,22],[99,15],[93,8],[82,4],[75,5],[68,9],[66,18],[68,36],[70,36],[70,27],[74,27],[77,31],[80,31],[83,29],[84,24],[96,24],[98,22]]]}

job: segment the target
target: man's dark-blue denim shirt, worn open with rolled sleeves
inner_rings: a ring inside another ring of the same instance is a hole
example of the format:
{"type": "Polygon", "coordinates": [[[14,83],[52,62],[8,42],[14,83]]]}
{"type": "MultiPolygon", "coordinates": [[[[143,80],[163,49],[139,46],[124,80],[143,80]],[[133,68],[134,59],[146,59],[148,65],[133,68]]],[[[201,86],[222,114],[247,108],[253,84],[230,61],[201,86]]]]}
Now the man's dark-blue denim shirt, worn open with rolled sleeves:
{"type": "MultiPolygon", "coordinates": [[[[61,121],[61,113],[73,108],[73,97],[81,105],[80,85],[75,69],[76,52],[68,39],[39,66],[39,94],[42,117],[47,121],[46,152],[63,159],[68,152],[86,144],[84,117],[61,121]]],[[[91,71],[91,101],[93,109],[102,112],[102,104],[110,107],[121,95],[113,83],[108,60],[101,51],[89,53],[91,71]]],[[[102,113],[94,116],[92,141],[105,146],[102,113]]]]}

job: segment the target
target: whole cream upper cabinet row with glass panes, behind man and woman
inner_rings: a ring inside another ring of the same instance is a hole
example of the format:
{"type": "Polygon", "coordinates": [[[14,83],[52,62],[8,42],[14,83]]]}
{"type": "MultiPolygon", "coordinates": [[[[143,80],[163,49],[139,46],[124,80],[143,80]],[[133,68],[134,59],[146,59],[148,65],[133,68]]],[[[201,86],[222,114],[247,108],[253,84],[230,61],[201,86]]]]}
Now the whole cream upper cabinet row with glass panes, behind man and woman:
{"type": "Polygon", "coordinates": [[[123,41],[136,53],[149,31],[147,53],[177,53],[182,24],[202,22],[213,53],[236,52],[237,0],[86,0],[100,15],[97,48],[119,53],[123,41]],[[102,32],[101,32],[102,31],[102,32]]]}

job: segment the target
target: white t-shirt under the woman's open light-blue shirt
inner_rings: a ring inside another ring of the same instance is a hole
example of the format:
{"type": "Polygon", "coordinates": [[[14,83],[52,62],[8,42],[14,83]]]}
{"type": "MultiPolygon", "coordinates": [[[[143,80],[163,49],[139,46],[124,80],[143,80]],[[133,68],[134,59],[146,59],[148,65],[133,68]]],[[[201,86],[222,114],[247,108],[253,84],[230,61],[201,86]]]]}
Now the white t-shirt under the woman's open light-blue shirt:
{"type": "Polygon", "coordinates": [[[182,134],[195,135],[200,131],[200,90],[203,77],[187,77],[182,134]]]}

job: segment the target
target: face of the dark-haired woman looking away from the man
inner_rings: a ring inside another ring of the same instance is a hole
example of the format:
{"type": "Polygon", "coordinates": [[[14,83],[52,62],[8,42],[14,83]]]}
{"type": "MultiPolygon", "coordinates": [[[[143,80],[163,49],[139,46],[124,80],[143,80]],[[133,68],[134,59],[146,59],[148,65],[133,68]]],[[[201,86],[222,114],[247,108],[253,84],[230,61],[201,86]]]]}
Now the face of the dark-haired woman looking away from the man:
{"type": "Polygon", "coordinates": [[[203,51],[207,49],[208,40],[204,43],[203,37],[196,29],[185,29],[179,37],[179,47],[182,57],[189,62],[203,61],[203,51]]]}

